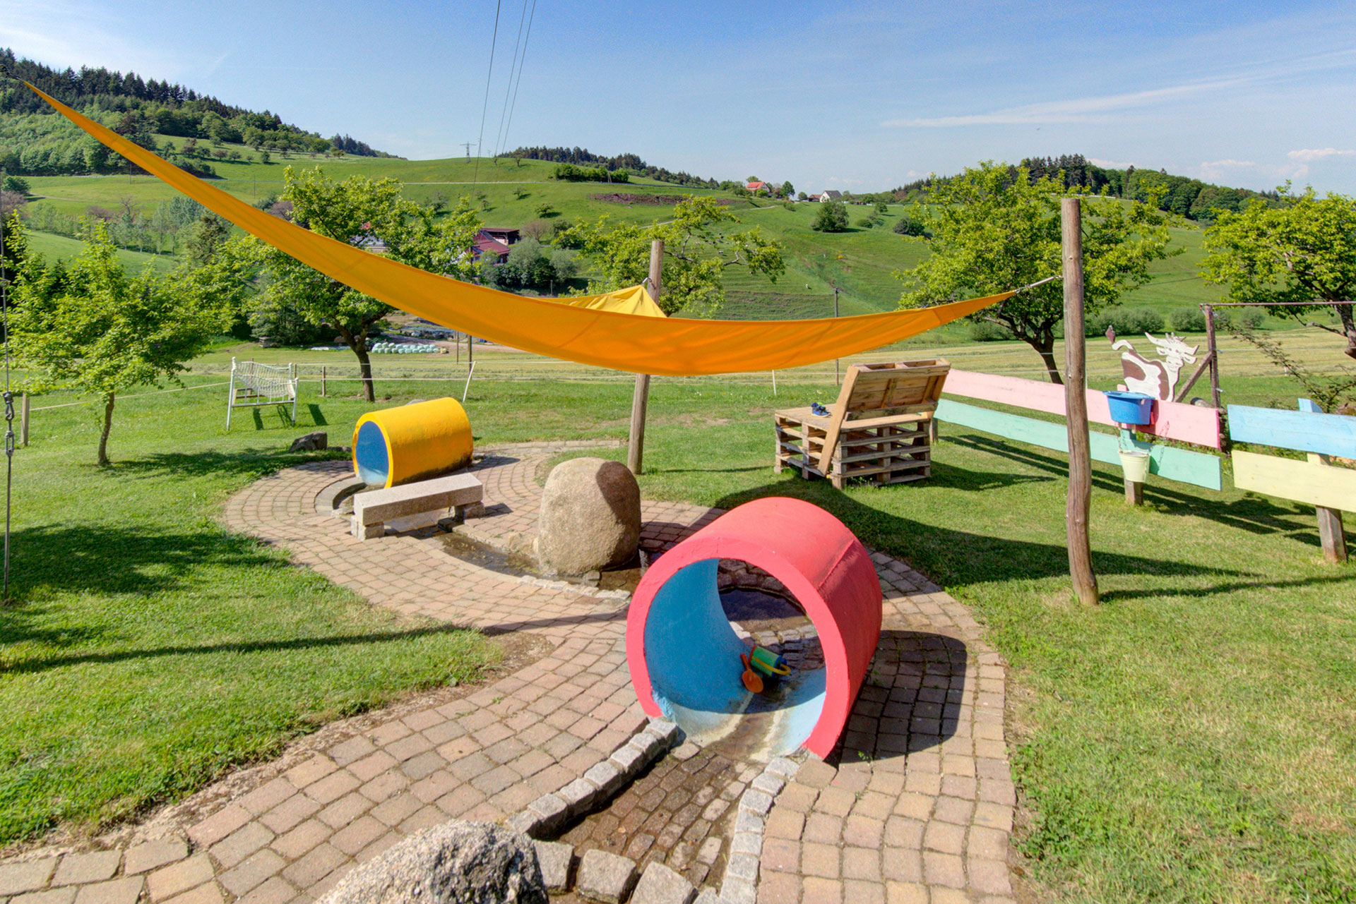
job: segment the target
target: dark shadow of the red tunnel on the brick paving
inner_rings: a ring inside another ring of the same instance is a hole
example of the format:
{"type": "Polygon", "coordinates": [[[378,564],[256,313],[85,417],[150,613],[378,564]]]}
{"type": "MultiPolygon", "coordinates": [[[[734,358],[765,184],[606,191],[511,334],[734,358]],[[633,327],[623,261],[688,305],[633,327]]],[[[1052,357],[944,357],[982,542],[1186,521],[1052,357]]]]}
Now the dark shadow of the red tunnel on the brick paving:
{"type": "Polygon", "coordinates": [[[881,630],[866,680],[827,762],[895,759],[953,736],[968,659],[965,644],[955,637],[881,630]]]}

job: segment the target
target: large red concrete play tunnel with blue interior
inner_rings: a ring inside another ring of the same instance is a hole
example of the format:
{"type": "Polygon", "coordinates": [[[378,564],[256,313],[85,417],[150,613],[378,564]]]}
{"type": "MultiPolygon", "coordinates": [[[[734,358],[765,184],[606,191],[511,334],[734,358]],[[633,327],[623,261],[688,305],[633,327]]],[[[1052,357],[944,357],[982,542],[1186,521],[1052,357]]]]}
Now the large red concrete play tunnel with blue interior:
{"type": "MultiPolygon", "coordinates": [[[[827,756],[880,640],[880,581],[852,531],[799,499],[739,506],[650,567],[626,615],[626,661],[641,707],[697,736],[723,733],[747,707],[753,691],[743,683],[744,659],[750,667],[758,660],[720,606],[721,558],[769,572],[814,622],[824,668],[795,675],[795,687],[785,689],[772,749],[803,745],[827,756]]],[[[789,686],[789,679],[782,680],[789,686]]]]}

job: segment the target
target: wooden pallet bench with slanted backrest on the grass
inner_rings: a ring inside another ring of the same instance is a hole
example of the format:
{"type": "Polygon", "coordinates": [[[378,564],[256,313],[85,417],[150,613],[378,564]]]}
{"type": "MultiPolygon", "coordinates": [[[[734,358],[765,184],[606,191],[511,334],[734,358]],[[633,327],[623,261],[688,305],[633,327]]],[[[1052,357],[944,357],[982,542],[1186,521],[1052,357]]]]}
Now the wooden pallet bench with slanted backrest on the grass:
{"type": "Polygon", "coordinates": [[[774,412],[774,469],[827,477],[839,489],[858,477],[876,484],[930,477],[933,415],[949,370],[941,358],[853,365],[827,415],[774,412]]]}

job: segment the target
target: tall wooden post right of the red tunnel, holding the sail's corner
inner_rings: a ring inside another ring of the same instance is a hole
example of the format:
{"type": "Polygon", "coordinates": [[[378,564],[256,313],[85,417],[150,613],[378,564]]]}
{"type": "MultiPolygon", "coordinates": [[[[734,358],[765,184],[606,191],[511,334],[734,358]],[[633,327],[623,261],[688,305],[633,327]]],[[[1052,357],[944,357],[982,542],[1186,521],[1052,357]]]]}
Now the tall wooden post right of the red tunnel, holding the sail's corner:
{"type": "Polygon", "coordinates": [[[1064,530],[1069,542],[1069,575],[1078,599],[1098,602],[1093,573],[1088,518],[1092,506],[1092,440],[1088,435],[1086,340],[1083,339],[1083,236],[1078,198],[1060,203],[1064,244],[1064,407],[1069,422],[1069,503],[1064,530]]]}

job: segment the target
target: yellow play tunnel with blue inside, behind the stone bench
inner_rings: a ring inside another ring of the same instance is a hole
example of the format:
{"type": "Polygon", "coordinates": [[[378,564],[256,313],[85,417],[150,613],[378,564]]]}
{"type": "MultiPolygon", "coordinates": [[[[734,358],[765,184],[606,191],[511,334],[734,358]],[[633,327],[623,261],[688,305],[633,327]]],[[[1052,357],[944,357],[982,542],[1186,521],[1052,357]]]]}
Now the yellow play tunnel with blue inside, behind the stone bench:
{"type": "Polygon", "coordinates": [[[471,420],[456,398],[363,415],[353,430],[353,470],[369,487],[396,487],[471,464],[471,420]]]}

